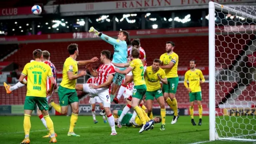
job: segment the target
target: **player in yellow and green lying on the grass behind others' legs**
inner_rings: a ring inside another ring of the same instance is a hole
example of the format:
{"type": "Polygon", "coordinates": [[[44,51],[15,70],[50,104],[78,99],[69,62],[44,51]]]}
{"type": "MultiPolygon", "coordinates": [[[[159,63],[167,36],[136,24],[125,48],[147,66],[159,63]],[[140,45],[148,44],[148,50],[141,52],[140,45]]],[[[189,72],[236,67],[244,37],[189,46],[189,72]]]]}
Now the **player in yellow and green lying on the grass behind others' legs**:
{"type": "MultiPolygon", "coordinates": [[[[145,118],[149,118],[144,110],[142,110],[142,112],[143,112],[145,118]]],[[[122,113],[122,110],[114,110],[114,111],[113,111],[116,125],[117,125],[118,118],[120,117],[121,113],[122,113]]],[[[142,127],[143,124],[142,124],[142,122],[140,121],[140,118],[138,118],[138,116],[136,116],[136,118],[135,118],[135,122],[136,122],[137,125],[134,125],[134,124],[130,123],[130,119],[131,119],[131,118],[132,118],[132,114],[126,114],[126,115],[124,116],[124,118],[122,119],[121,124],[122,124],[123,126],[142,127]]],[[[155,124],[162,121],[162,119],[161,119],[159,116],[156,116],[153,120],[154,120],[154,123],[155,123],[155,124]]],[[[153,125],[152,125],[152,126],[153,126],[153,125]]],[[[153,127],[152,127],[152,128],[153,128],[153,127]]]]}

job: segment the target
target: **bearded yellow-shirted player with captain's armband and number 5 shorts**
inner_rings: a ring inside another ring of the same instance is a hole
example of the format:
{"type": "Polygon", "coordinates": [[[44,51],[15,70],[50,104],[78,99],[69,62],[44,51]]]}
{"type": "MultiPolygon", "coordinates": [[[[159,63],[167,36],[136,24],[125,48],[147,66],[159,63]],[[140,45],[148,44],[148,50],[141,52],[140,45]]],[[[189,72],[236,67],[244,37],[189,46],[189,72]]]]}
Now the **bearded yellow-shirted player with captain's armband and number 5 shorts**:
{"type": "Polygon", "coordinates": [[[174,111],[174,117],[171,124],[175,124],[179,118],[178,116],[178,103],[175,98],[177,91],[179,77],[178,77],[178,54],[173,52],[175,47],[174,42],[166,42],[166,53],[160,56],[162,66],[160,68],[164,69],[168,84],[163,84],[162,91],[164,92],[164,99],[166,103],[174,111]]]}

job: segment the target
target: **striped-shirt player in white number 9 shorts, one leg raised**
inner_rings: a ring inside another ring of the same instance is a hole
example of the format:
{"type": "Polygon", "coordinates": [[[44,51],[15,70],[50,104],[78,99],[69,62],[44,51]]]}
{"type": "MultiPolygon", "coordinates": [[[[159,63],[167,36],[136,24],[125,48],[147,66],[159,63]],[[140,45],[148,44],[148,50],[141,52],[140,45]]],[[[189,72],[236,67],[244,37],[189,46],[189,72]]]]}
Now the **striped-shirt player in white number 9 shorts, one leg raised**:
{"type": "Polygon", "coordinates": [[[111,127],[111,134],[116,135],[115,120],[110,110],[110,88],[112,80],[116,73],[115,66],[110,61],[111,53],[108,50],[102,50],[100,53],[100,61],[102,64],[95,71],[92,66],[87,65],[90,70],[90,74],[96,77],[95,84],[76,84],[76,90],[83,90],[92,94],[92,96],[98,96],[100,102],[103,103],[106,116],[108,117],[108,123],[111,127]]]}

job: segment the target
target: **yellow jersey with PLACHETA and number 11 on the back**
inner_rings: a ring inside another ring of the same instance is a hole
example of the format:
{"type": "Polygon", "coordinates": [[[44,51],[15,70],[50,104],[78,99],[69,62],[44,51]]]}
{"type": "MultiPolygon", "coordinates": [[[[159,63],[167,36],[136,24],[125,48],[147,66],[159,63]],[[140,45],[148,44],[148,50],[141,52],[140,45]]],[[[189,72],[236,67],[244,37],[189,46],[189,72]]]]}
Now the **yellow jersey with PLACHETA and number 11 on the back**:
{"type": "Polygon", "coordinates": [[[46,97],[47,77],[51,77],[52,69],[44,62],[27,63],[22,74],[28,76],[26,96],[46,97]]]}

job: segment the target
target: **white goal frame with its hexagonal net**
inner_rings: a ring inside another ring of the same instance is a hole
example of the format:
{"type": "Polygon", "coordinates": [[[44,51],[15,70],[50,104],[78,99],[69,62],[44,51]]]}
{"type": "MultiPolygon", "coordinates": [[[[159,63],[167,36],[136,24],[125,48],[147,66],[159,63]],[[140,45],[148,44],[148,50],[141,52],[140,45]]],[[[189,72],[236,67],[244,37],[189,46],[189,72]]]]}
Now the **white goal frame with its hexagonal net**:
{"type": "Polygon", "coordinates": [[[210,140],[256,142],[256,6],[209,2],[210,140]]]}

